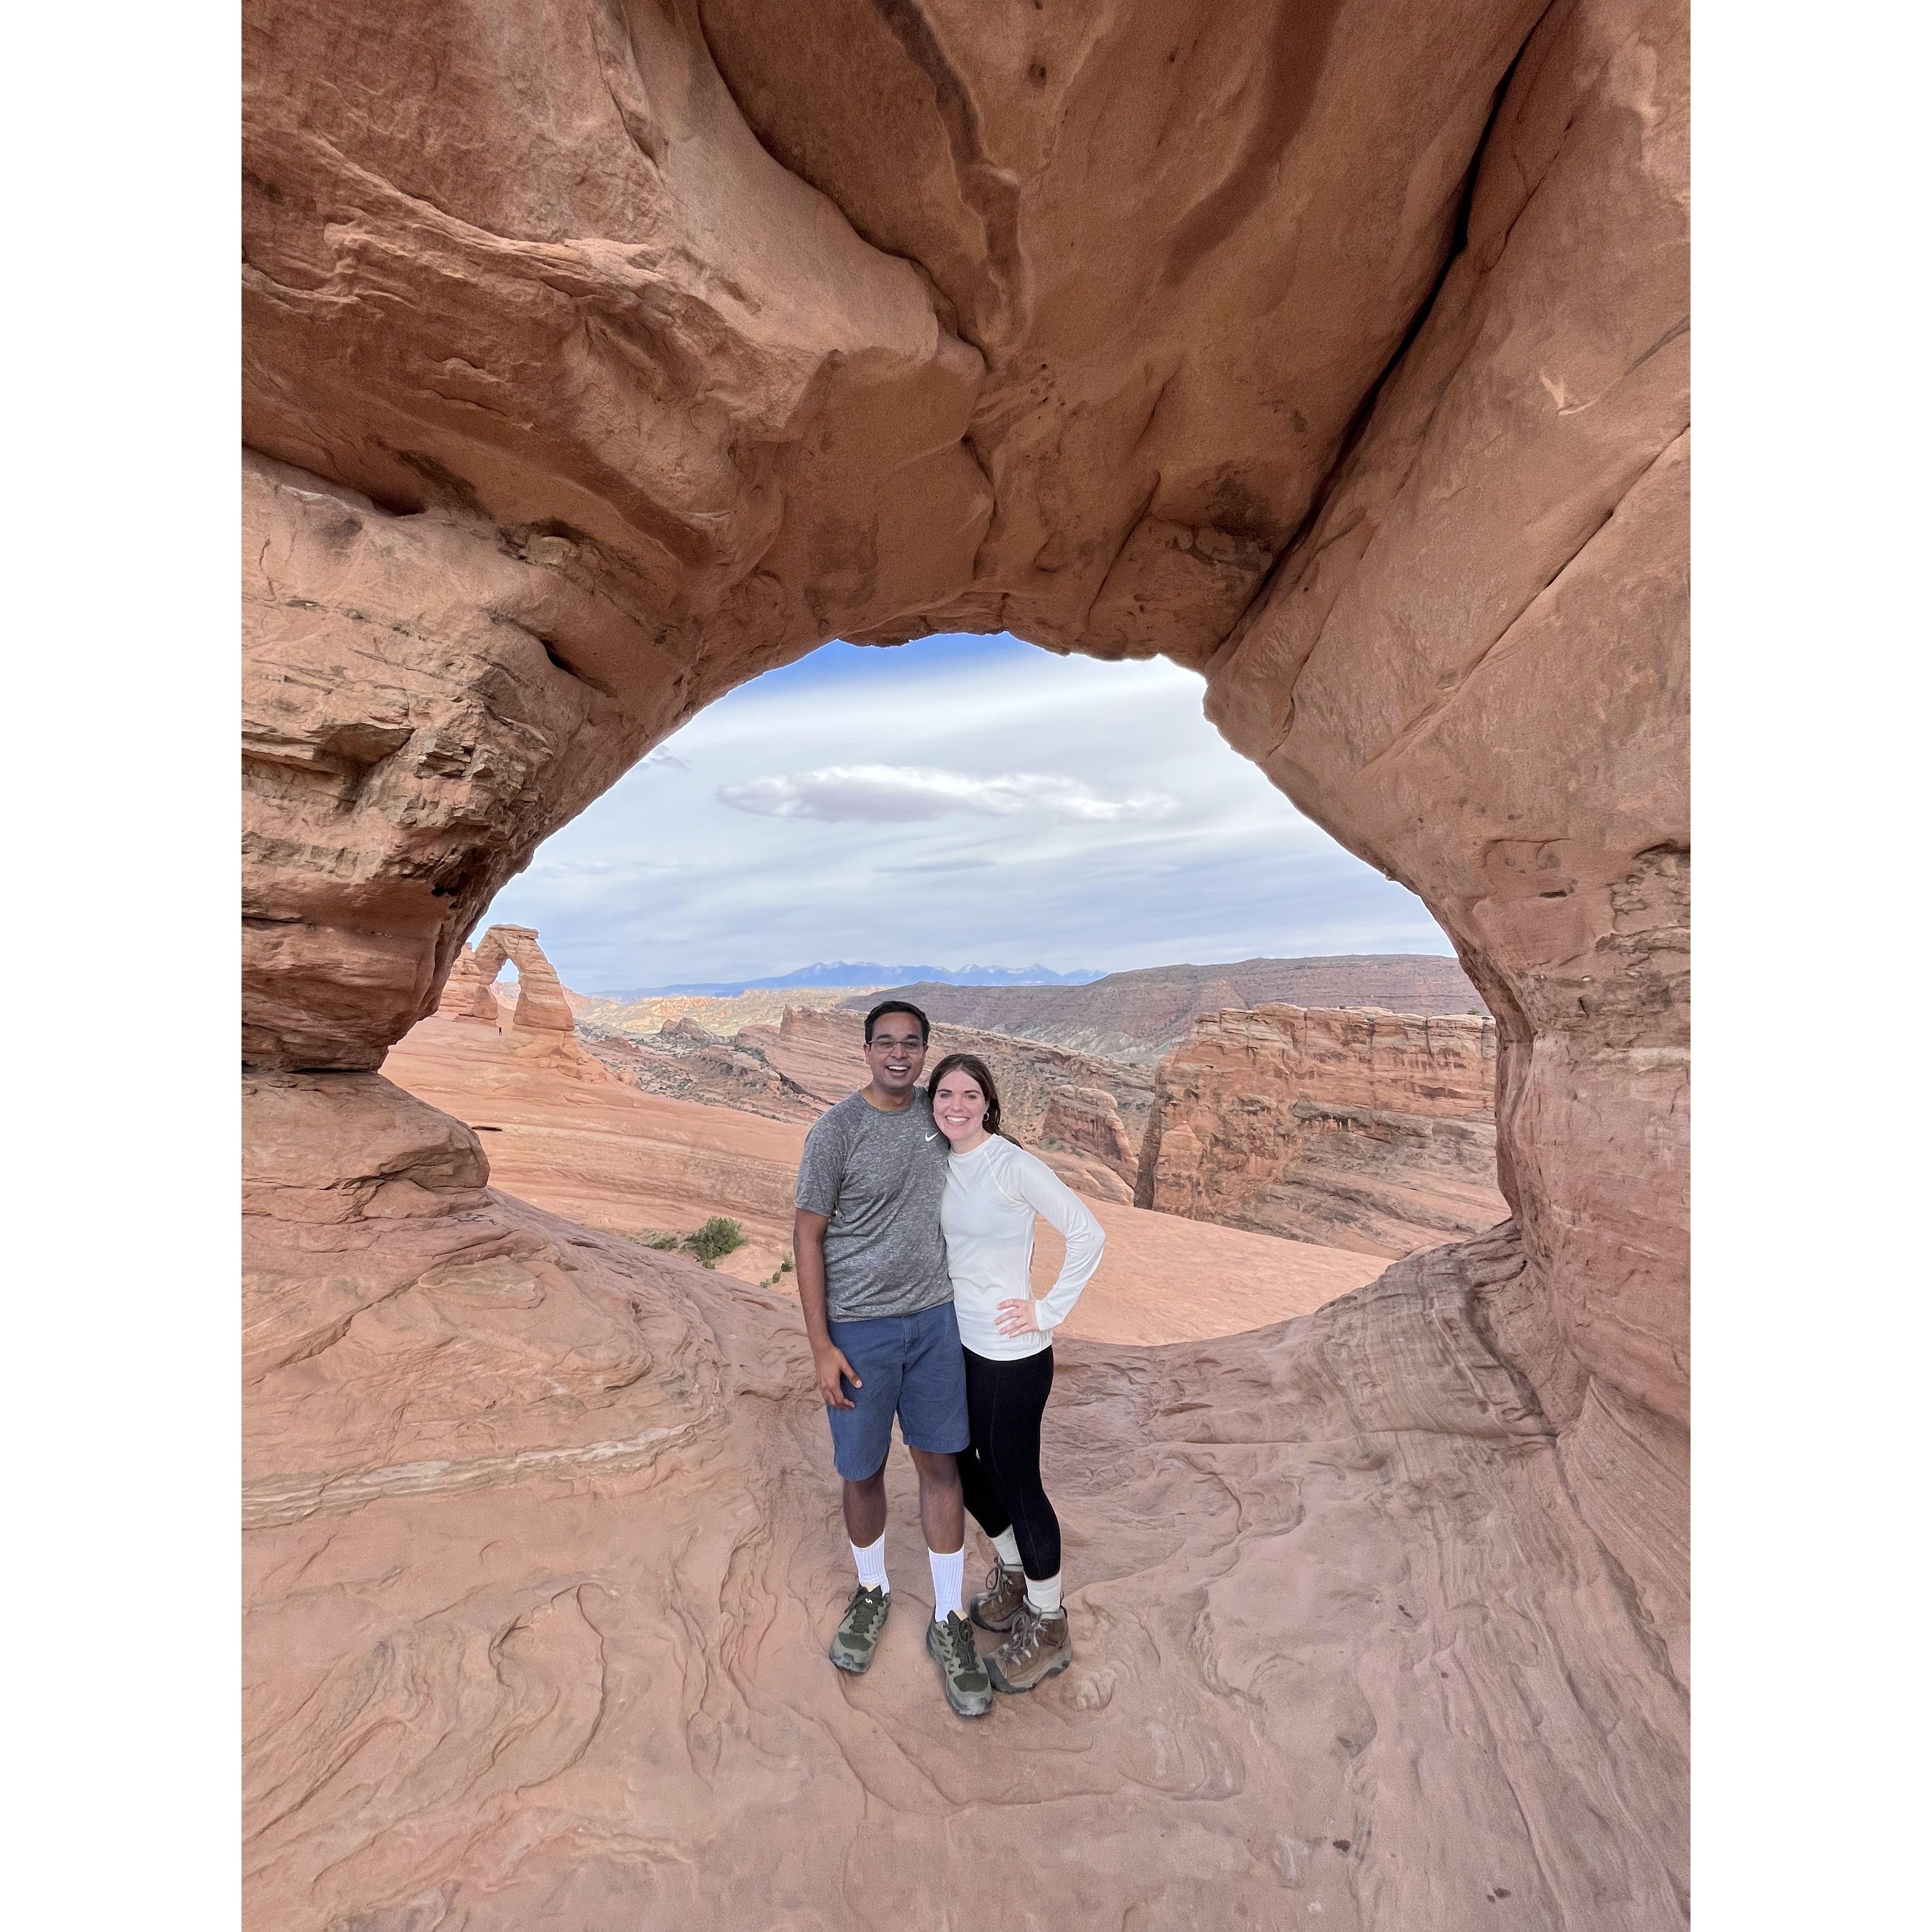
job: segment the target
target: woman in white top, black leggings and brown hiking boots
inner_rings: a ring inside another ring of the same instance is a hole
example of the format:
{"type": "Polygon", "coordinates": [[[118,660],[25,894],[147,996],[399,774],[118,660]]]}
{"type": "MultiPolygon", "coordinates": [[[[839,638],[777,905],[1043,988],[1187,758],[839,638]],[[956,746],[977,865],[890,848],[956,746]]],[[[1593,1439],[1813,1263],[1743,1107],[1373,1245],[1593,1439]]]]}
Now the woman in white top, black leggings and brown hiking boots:
{"type": "Polygon", "coordinates": [[[985,1061],[949,1053],[927,1094],[952,1144],[939,1225],[966,1345],[972,1447],[960,1453],[966,1507],[999,1553],[972,1621],[1007,1640],[985,1658],[995,1690],[1032,1690],[1074,1660],[1061,1604],[1061,1522],[1039,1482],[1039,1418],[1053,1387],[1053,1329],[1066,1320],[1107,1235],[1041,1161],[999,1132],[985,1061]],[[1034,1215],[1066,1236],[1061,1279],[1034,1300],[1034,1215]]]}

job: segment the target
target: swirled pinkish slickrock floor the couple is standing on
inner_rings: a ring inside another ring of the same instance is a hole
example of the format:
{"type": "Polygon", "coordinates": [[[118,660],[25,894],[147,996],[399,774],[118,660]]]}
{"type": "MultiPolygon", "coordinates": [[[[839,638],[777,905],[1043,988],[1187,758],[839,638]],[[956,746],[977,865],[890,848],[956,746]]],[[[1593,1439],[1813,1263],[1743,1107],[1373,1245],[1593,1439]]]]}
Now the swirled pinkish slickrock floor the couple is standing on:
{"type": "Polygon", "coordinates": [[[247,1105],[251,1924],[1683,1922],[1671,1633],[1495,1354],[1507,1231],[1258,1333],[1065,1341],[1076,1662],[966,1725],[902,1455],[881,1656],[823,1658],[796,1308],[479,1186],[379,1076],[247,1105]]]}

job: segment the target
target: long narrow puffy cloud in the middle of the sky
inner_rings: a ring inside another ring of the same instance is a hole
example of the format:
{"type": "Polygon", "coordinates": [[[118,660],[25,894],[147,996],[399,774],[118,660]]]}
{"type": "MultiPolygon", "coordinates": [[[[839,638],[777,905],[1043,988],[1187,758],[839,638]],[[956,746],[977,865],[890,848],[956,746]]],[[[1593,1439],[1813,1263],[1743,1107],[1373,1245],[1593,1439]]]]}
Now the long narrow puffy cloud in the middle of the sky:
{"type": "Polygon", "coordinates": [[[922,765],[827,765],[771,779],[721,784],[719,802],[761,819],[817,819],[825,825],[912,825],[964,811],[1005,819],[1041,811],[1082,825],[1157,819],[1175,810],[1167,792],[1105,798],[1078,779],[1009,771],[974,779],[922,765]]]}

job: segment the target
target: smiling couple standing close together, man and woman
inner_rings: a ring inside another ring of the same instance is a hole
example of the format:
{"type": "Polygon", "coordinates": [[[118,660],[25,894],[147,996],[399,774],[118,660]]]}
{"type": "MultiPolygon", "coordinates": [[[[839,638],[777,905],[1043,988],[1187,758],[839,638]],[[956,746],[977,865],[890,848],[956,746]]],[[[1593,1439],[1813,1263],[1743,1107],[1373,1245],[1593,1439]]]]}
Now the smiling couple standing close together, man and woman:
{"type": "Polygon", "coordinates": [[[1039,1418],[1053,1329],[1107,1236],[1045,1161],[1001,1136],[983,1061],[949,1053],[920,1088],[929,1037],[925,1014],[904,1001],[866,1014],[871,1080],[806,1136],[794,1254],[858,1565],[833,1663],[864,1671],[893,1607],[885,1457],[896,1414],[933,1573],[925,1652],[952,1710],[981,1718],[995,1689],[1032,1690],[1072,1662],[1039,1418]],[[1066,1236],[1043,1300],[1030,1285],[1036,1215],[1066,1236]],[[970,1611],[960,1602],[968,1509],[995,1551],[970,1611]],[[985,1658],[974,1625],[1001,1636],[985,1658]]]}

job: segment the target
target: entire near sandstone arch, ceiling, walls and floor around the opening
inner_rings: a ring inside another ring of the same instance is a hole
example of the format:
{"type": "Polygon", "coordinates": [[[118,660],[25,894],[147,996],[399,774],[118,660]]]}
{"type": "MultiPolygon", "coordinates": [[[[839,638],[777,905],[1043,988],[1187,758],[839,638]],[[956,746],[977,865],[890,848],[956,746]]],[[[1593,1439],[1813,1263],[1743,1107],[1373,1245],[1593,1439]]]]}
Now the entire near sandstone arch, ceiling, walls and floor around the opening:
{"type": "Polygon", "coordinates": [[[247,10],[251,1915],[908,1922],[1018,1857],[1066,1920],[1681,1924],[1687,10],[784,29],[247,10]],[[697,707],[997,628],[1200,667],[1422,895],[1520,1254],[1074,1364],[1082,1662],[962,1772],[817,1658],[790,1331],[371,1068],[697,707]]]}

